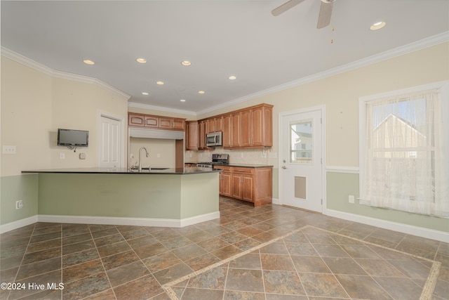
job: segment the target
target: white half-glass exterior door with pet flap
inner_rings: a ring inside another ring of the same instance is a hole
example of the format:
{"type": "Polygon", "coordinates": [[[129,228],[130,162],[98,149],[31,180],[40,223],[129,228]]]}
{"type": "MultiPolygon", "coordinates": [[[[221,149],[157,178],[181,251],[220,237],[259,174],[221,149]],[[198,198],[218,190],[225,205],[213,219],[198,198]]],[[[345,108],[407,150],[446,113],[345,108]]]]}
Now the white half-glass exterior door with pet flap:
{"type": "Polygon", "coordinates": [[[281,203],[323,212],[323,110],[281,115],[281,203]]]}

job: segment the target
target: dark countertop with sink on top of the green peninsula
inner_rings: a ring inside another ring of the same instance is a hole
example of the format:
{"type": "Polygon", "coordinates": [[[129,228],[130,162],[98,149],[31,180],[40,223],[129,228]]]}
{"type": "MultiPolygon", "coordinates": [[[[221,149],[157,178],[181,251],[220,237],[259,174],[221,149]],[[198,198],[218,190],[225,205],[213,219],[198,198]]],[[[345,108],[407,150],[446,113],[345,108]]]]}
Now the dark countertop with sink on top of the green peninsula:
{"type": "Polygon", "coordinates": [[[153,169],[126,169],[126,168],[68,168],[68,169],[40,169],[40,170],[26,170],[22,173],[59,173],[59,174],[201,174],[220,172],[217,169],[208,168],[153,168],[153,169]]]}

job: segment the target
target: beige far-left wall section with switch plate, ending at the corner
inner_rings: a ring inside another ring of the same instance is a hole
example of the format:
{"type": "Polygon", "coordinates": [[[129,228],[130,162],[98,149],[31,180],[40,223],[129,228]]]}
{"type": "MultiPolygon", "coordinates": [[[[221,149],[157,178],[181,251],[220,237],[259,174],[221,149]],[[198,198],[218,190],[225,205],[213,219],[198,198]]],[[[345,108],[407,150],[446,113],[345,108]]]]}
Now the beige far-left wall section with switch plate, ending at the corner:
{"type": "Polygon", "coordinates": [[[1,56],[1,146],[17,151],[1,151],[1,176],[51,165],[51,86],[50,76],[1,56]]]}

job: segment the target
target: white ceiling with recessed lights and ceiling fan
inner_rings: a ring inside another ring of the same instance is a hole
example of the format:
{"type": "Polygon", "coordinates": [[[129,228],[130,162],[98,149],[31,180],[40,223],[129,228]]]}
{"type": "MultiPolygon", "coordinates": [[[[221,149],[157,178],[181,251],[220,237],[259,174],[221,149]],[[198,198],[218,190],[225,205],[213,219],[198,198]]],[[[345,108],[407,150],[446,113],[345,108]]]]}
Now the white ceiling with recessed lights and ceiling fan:
{"type": "Polygon", "coordinates": [[[198,113],[449,30],[448,0],[337,0],[321,30],[320,0],[274,17],[286,1],[1,1],[1,46],[129,102],[198,113]]]}

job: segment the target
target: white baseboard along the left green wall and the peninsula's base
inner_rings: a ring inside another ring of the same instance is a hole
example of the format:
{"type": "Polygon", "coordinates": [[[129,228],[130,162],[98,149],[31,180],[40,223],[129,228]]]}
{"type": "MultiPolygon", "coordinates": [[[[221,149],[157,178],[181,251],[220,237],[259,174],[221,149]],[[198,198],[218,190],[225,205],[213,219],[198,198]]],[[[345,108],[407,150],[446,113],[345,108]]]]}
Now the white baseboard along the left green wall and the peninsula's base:
{"type": "Polygon", "coordinates": [[[152,218],[121,218],[110,216],[58,216],[45,215],[32,216],[27,219],[14,221],[0,226],[0,233],[30,225],[36,222],[49,223],[77,223],[77,224],[105,224],[105,225],[128,225],[128,226],[155,226],[155,227],[175,227],[181,228],[204,221],[220,218],[220,211],[209,214],[192,216],[185,219],[152,219],[152,218]]]}

